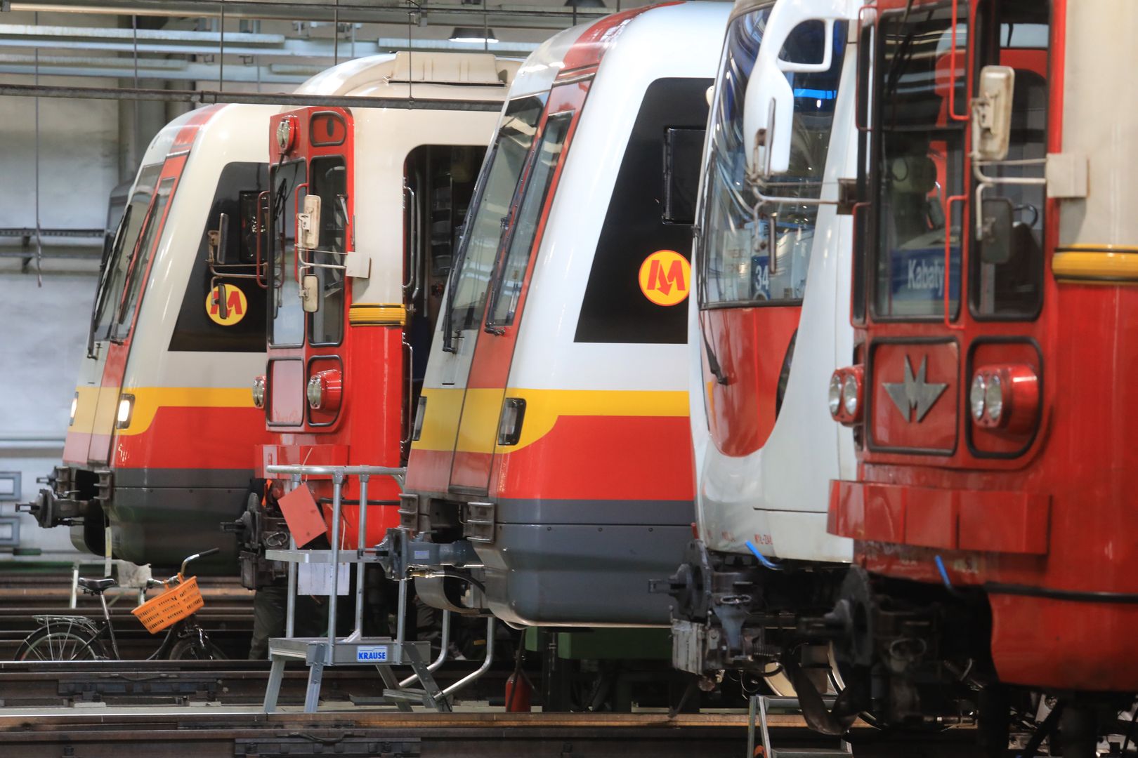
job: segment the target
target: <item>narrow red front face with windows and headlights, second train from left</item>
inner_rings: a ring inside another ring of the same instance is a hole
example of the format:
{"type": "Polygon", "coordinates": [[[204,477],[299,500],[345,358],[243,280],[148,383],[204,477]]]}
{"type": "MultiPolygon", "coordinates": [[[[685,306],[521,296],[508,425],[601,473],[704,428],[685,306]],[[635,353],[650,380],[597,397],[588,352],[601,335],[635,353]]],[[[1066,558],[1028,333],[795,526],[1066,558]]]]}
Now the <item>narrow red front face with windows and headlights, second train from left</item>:
{"type": "MultiPolygon", "coordinates": [[[[305,108],[274,118],[273,128],[266,418],[280,433],[327,432],[340,420],[347,352],[352,122],[343,109],[305,108]]],[[[308,463],[337,461],[318,455],[308,463]]]]}

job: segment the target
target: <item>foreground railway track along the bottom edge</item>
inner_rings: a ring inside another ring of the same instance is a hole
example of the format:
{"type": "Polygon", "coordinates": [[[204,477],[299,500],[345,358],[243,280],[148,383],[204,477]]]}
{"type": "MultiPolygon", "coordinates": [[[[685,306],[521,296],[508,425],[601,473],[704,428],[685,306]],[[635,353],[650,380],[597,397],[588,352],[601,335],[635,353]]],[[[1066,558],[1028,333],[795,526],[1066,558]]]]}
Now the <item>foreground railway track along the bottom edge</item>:
{"type": "MultiPolygon", "coordinates": [[[[871,736],[871,730],[859,730],[871,736]]],[[[735,714],[257,713],[2,716],[0,739],[20,758],[745,758],[747,717],[735,714]]],[[[797,716],[773,716],[783,755],[836,747],[797,716]]],[[[970,755],[967,730],[855,743],[855,756],[970,755]]]]}

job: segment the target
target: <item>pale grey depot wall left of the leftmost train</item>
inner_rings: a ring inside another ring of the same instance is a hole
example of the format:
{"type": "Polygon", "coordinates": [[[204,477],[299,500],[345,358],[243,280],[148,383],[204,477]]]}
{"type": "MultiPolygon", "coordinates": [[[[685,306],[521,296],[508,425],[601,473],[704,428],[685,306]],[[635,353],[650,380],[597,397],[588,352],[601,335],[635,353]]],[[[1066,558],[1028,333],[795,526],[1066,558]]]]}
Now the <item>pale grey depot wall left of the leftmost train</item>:
{"type": "MultiPolygon", "coordinates": [[[[6,14],[5,22],[31,24],[33,15],[6,14]]],[[[107,26],[117,18],[40,14],[39,22],[107,26]]],[[[3,81],[31,84],[34,77],[5,75],[3,81]]],[[[60,76],[41,76],[40,83],[118,85],[117,80],[60,76]]],[[[143,108],[135,115],[132,103],[125,105],[41,99],[36,140],[36,101],[0,99],[0,228],[35,227],[39,216],[44,230],[101,230],[110,190],[133,175],[133,143],[141,142],[145,150],[150,140],[139,130],[165,122],[164,109],[148,115],[143,108]]],[[[34,238],[0,235],[0,472],[20,474],[25,501],[42,486],[35,478],[48,474],[63,452],[102,247],[100,236],[42,241],[52,257],[43,260],[38,276],[34,238]],[[68,257],[55,257],[59,253],[68,257]]],[[[0,517],[14,510],[13,503],[0,502],[0,517]]],[[[26,514],[20,517],[20,547],[73,550],[66,527],[40,530],[26,514]]]]}

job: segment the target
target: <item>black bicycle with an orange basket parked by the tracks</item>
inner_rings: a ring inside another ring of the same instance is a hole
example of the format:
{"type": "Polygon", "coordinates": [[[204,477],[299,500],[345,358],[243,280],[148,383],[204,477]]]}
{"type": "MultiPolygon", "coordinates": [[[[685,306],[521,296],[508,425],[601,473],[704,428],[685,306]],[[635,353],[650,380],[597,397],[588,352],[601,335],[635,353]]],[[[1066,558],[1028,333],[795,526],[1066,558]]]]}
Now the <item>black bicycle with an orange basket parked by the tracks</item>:
{"type": "MultiPolygon", "coordinates": [[[[185,578],[185,567],[198,558],[218,552],[217,548],[196,552],[182,561],[182,567],[166,581],[147,580],[147,589],[160,586],[165,592],[146,601],[132,613],[151,634],[166,630],[158,649],[146,660],[217,660],[225,658],[221,648],[209,641],[197,623],[195,613],[201,607],[197,577],[185,578]]],[[[104,593],[117,586],[114,578],[79,578],[84,594],[93,594],[102,603],[101,623],[86,616],[34,616],[39,628],[24,638],[16,660],[122,660],[115,625],[104,593]],[[109,643],[109,651],[108,651],[109,643]]]]}

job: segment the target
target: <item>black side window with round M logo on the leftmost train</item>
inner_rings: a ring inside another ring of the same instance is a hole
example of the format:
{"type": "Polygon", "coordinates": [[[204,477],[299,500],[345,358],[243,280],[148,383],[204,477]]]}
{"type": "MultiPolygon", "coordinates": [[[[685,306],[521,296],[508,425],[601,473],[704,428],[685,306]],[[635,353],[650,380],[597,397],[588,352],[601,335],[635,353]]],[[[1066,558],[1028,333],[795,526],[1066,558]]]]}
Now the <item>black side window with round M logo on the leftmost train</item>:
{"type": "MultiPolygon", "coordinates": [[[[269,188],[267,167],[258,163],[231,163],[221,172],[209,213],[201,227],[193,268],[178,310],[173,352],[263,352],[265,349],[265,290],[255,280],[223,280],[226,316],[211,302],[211,276],[206,263],[209,230],[229,215],[226,249],[231,260],[254,263],[256,258],[257,195],[269,188]],[[212,311],[212,313],[211,313],[212,311]]],[[[264,215],[262,214],[262,222],[264,215]]],[[[262,244],[265,240],[262,240],[262,244]]],[[[267,255],[262,250],[262,256],[267,255]]],[[[251,269],[251,267],[250,267],[251,269]]]]}

